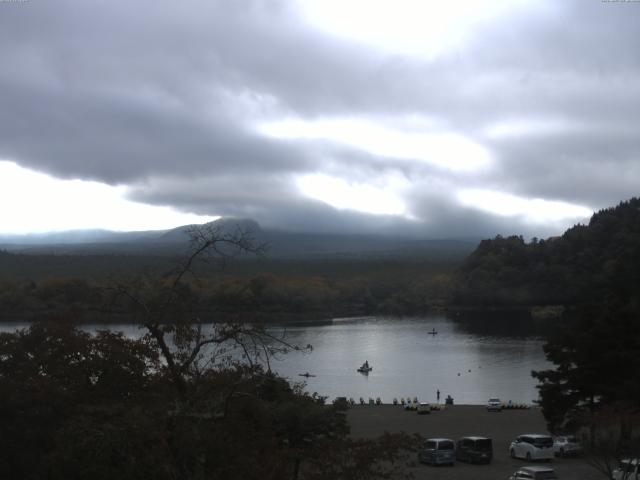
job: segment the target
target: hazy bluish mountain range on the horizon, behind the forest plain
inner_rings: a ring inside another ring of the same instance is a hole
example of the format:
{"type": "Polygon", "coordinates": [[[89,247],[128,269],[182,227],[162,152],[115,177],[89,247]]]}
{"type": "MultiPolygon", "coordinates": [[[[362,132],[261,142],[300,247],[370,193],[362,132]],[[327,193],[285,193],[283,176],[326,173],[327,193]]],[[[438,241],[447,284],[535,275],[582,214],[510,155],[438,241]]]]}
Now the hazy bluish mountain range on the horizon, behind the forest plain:
{"type": "MultiPolygon", "coordinates": [[[[205,224],[221,234],[251,232],[255,241],[268,245],[272,258],[360,258],[419,256],[434,260],[461,260],[477,245],[475,239],[424,239],[384,235],[297,233],[263,229],[251,219],[223,218],[205,224]]],[[[171,230],[111,232],[85,230],[38,235],[0,236],[0,248],[21,253],[54,254],[182,254],[189,231],[198,225],[171,230]]]]}

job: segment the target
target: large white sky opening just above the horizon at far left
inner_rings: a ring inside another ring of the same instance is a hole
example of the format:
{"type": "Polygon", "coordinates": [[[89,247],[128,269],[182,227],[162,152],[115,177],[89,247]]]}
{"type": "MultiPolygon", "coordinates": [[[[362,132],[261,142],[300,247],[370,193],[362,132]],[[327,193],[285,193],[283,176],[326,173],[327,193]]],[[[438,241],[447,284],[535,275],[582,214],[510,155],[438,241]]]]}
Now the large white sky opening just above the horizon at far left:
{"type": "Polygon", "coordinates": [[[0,161],[0,233],[72,229],[154,230],[204,217],[126,200],[126,188],[83,180],[58,180],[0,161]]]}

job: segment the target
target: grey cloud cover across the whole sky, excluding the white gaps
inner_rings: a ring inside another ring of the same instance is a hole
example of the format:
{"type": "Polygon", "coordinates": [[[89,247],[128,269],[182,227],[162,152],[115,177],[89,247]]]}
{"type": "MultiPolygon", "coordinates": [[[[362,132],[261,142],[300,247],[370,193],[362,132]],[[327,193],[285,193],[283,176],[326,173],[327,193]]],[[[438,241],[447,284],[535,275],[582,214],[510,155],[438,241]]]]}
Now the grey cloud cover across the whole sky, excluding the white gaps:
{"type": "Polygon", "coordinates": [[[296,230],[541,235],[560,227],[462,207],[456,191],[593,209],[640,191],[640,4],[532,2],[433,59],[331,37],[293,5],[0,4],[0,158],[296,230]],[[483,146],[491,167],[456,172],[257,132],[281,118],[400,129],[406,116],[483,146]],[[295,183],[310,173],[374,183],[395,173],[411,184],[402,195],[413,219],[311,200],[295,183]]]}

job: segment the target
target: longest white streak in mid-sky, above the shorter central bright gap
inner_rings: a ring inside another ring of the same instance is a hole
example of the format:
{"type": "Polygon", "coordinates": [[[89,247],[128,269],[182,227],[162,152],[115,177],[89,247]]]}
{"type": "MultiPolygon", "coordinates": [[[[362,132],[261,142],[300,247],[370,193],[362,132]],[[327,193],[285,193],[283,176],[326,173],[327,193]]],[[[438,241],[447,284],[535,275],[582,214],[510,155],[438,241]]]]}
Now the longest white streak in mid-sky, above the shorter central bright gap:
{"type": "Polygon", "coordinates": [[[258,130],[280,139],[328,140],[373,155],[418,160],[452,171],[473,171],[491,163],[481,145],[455,133],[398,130],[361,119],[282,120],[258,130]]]}

